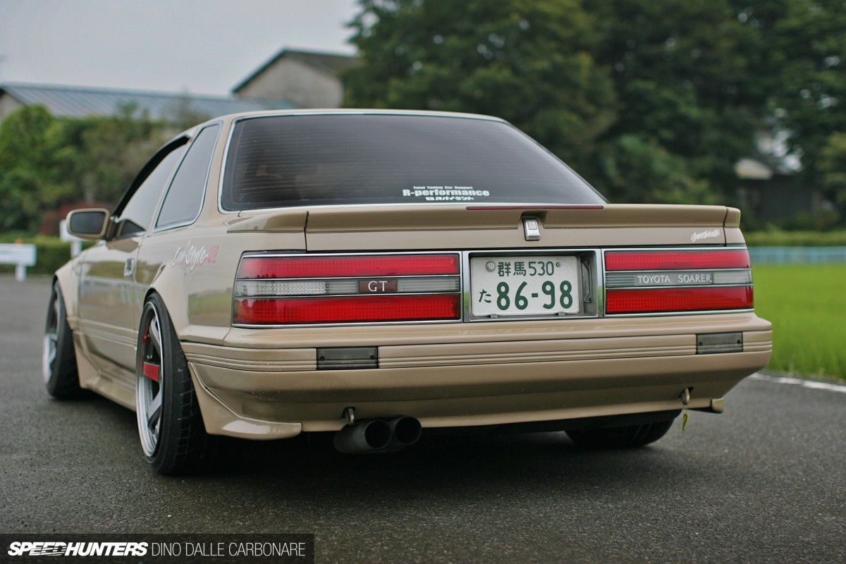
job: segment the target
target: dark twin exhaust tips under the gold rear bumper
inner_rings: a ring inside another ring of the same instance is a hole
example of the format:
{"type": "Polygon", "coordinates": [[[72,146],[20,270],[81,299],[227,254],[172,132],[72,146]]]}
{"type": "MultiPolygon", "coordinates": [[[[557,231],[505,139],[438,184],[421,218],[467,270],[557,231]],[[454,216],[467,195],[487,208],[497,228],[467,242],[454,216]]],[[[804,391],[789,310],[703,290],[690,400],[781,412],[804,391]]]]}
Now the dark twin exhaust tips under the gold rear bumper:
{"type": "Polygon", "coordinates": [[[347,454],[397,452],[415,444],[422,434],[423,427],[414,417],[370,419],[339,430],[332,443],[347,454]]]}

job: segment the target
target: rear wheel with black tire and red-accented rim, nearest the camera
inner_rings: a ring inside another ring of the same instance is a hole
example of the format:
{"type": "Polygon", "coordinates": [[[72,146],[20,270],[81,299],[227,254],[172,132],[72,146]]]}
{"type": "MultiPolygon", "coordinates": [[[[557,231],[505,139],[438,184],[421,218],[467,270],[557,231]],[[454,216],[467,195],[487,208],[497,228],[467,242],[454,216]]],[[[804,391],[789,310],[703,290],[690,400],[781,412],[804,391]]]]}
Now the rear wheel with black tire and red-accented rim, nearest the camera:
{"type": "Polygon", "coordinates": [[[135,413],[141,448],[158,474],[190,474],[211,463],[217,437],[206,434],[188,364],[157,294],[141,312],[135,413]]]}

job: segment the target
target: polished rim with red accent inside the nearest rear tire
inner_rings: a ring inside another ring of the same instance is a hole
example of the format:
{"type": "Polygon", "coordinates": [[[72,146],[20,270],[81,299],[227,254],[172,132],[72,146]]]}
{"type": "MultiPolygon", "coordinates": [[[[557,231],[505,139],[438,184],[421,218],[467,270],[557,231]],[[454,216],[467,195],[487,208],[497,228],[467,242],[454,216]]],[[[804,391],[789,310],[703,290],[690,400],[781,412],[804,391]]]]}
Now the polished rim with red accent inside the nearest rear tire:
{"type": "Polygon", "coordinates": [[[162,437],[162,329],[154,304],[141,317],[140,363],[135,375],[135,408],[141,446],[148,457],[156,453],[162,437]]]}

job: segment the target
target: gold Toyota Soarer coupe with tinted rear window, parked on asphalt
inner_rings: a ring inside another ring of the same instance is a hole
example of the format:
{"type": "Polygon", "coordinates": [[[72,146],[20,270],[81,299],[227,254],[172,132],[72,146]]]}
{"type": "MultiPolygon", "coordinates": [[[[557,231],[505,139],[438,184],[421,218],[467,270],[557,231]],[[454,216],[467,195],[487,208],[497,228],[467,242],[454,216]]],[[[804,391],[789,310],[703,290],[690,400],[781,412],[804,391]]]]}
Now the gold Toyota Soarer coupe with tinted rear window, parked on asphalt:
{"type": "Polygon", "coordinates": [[[162,474],[222,435],[423,430],[656,441],[770,358],[738,210],[612,205],[518,129],[459,113],[213,119],[162,147],[56,272],[55,397],[135,409],[162,474]]]}

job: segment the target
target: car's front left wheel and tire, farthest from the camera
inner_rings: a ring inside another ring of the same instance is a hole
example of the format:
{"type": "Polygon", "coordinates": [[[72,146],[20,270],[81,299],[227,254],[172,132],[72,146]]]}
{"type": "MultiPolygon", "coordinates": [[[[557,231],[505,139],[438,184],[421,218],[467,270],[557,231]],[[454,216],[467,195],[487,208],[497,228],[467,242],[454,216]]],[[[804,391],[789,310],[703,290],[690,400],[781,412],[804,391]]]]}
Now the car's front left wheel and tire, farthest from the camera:
{"type": "Polygon", "coordinates": [[[44,349],[41,356],[41,374],[44,385],[52,397],[69,399],[79,397],[80,373],[76,367],[74,336],[70,332],[65,314],[64,298],[58,282],[53,282],[47,324],[44,329],[44,349]]]}

